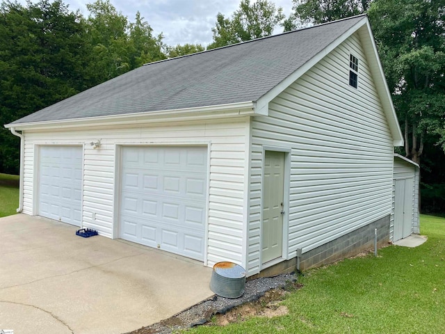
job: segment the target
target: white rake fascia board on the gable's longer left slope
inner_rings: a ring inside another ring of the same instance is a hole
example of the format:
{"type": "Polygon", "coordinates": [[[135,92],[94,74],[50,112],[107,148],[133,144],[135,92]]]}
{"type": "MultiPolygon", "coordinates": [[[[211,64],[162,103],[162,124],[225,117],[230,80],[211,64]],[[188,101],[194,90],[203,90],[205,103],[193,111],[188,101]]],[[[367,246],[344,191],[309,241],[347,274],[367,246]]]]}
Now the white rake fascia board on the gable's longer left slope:
{"type": "Polygon", "coordinates": [[[339,38],[337,38],[337,40],[334,40],[334,42],[332,42],[330,45],[325,47],[325,49],[318,52],[318,54],[316,54],[309,61],[307,61],[307,63],[300,66],[298,68],[298,70],[296,70],[291,75],[289,75],[289,77],[287,77],[286,79],[281,81],[280,84],[277,84],[277,86],[275,86],[274,88],[269,90],[268,93],[266,93],[262,97],[260,97],[259,100],[257,101],[257,107],[255,108],[255,110],[256,110],[255,114],[260,113],[257,111],[262,111],[260,113],[261,115],[267,115],[267,112],[265,113],[264,110],[268,111],[268,105],[269,105],[270,101],[272,101],[275,97],[280,95],[280,93],[282,93],[282,91],[284,91],[286,88],[291,86],[291,84],[293,84],[294,81],[296,81],[303,74],[305,74],[308,70],[310,70],[312,67],[314,67],[314,65],[316,63],[321,61],[321,59],[323,59],[333,49],[338,47],[350,35],[355,33],[355,31],[357,31],[360,27],[364,26],[364,24],[366,24],[366,22],[368,22],[368,18],[366,16],[364,16],[363,19],[361,19],[359,22],[354,24],[354,26],[350,27],[350,29],[348,29],[348,31],[346,31],[345,33],[343,33],[343,35],[341,35],[339,38]]]}

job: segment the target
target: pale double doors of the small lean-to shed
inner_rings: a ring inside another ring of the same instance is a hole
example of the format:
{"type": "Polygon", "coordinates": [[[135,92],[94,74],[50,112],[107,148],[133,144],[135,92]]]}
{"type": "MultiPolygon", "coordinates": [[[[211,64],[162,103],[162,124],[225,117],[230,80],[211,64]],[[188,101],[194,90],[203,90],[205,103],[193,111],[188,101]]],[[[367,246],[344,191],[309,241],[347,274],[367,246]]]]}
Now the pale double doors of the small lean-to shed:
{"type": "Polygon", "coordinates": [[[413,186],[414,179],[412,178],[396,180],[393,241],[411,235],[413,186]]]}

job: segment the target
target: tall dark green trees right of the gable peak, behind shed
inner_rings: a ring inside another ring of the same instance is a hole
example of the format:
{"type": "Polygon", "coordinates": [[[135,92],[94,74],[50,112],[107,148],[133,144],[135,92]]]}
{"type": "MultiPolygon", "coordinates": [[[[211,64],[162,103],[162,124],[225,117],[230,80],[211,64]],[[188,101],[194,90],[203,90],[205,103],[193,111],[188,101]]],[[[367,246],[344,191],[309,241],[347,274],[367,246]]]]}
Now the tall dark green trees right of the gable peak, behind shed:
{"type": "Polygon", "coordinates": [[[323,23],[352,16],[369,6],[380,60],[405,134],[405,147],[398,152],[421,165],[422,198],[428,198],[428,207],[445,209],[443,198],[434,200],[445,193],[444,173],[438,173],[445,151],[444,1],[307,0],[294,4],[296,13],[285,22],[287,30],[301,22],[323,23]],[[339,3],[346,6],[337,6],[339,3]],[[421,159],[425,164],[420,164],[421,159]],[[437,206],[438,202],[442,204],[437,206]]]}

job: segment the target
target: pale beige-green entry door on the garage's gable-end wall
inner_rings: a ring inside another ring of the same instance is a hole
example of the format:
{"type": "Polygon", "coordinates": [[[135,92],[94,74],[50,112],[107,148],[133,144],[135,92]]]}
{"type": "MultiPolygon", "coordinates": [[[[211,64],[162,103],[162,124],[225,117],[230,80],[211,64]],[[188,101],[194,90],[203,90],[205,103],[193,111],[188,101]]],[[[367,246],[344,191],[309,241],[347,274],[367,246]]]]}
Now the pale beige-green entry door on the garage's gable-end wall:
{"type": "Polygon", "coordinates": [[[284,153],[266,151],[264,161],[262,262],[282,257],[284,153]]]}

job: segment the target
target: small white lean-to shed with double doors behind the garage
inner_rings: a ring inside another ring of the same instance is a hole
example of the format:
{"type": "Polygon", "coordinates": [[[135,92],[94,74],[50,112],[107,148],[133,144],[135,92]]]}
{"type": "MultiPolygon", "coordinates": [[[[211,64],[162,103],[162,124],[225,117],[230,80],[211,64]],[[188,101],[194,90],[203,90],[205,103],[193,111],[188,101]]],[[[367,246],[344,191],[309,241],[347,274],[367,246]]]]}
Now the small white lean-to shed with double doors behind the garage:
{"type": "Polygon", "coordinates": [[[391,212],[391,241],[420,233],[419,165],[394,154],[394,183],[391,212]]]}

